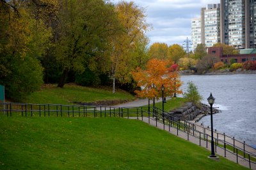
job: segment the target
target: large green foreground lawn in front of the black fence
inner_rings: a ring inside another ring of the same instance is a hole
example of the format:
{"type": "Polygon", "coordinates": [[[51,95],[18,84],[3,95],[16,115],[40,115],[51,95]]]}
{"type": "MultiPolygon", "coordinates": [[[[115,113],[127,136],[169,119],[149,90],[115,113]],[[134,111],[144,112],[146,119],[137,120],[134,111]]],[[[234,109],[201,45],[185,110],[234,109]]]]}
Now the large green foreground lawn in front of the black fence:
{"type": "Polygon", "coordinates": [[[246,169],[123,118],[0,116],[0,169],[246,169]]]}

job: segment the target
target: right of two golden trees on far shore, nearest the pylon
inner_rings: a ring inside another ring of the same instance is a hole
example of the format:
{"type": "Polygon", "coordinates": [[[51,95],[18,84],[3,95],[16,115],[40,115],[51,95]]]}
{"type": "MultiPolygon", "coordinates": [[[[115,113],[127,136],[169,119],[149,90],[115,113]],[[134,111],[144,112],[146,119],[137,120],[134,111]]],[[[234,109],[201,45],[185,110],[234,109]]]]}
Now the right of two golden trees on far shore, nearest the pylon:
{"type": "Polygon", "coordinates": [[[180,58],[186,54],[185,50],[178,44],[173,44],[168,49],[168,58],[174,61],[174,63],[178,63],[180,58]]]}

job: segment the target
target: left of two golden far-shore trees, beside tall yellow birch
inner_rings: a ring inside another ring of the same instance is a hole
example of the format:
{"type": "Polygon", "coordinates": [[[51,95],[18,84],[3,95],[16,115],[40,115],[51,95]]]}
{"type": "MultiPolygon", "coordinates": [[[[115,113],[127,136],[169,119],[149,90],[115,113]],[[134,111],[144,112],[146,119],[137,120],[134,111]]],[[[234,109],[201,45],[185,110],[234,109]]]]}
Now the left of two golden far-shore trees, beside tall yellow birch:
{"type": "Polygon", "coordinates": [[[168,58],[168,45],[166,43],[153,43],[148,50],[150,58],[167,59],[168,58]]]}

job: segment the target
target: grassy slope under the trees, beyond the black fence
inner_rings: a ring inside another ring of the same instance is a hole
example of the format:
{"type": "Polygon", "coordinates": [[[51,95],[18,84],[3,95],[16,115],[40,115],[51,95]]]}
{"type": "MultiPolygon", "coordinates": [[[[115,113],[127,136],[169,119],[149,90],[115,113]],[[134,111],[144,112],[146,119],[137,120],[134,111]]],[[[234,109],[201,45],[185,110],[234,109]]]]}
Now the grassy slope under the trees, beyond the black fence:
{"type": "Polygon", "coordinates": [[[31,93],[21,102],[31,104],[72,104],[72,102],[134,99],[134,96],[123,90],[117,90],[113,94],[110,88],[88,88],[75,84],[65,84],[63,88],[58,88],[56,84],[45,84],[40,91],[31,93]]]}

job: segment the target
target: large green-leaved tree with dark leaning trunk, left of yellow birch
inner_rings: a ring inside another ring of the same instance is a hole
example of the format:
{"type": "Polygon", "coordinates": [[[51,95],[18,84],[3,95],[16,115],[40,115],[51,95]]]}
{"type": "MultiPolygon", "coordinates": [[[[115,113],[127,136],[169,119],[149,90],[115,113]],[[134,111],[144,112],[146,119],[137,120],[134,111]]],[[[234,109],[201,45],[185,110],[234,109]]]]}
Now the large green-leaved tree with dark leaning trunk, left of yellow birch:
{"type": "Polygon", "coordinates": [[[68,72],[106,65],[109,38],[115,34],[118,20],[114,6],[102,0],[61,1],[58,19],[55,54],[63,70],[58,87],[63,87],[68,72]]]}

